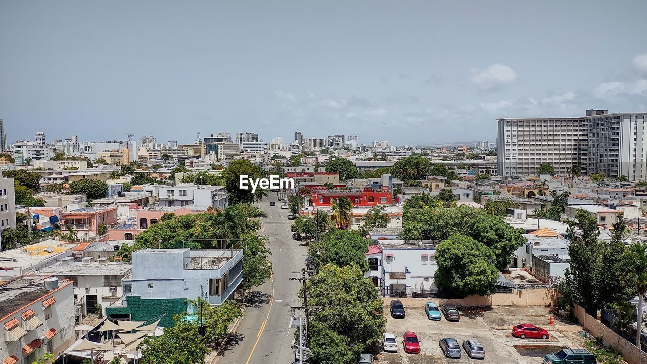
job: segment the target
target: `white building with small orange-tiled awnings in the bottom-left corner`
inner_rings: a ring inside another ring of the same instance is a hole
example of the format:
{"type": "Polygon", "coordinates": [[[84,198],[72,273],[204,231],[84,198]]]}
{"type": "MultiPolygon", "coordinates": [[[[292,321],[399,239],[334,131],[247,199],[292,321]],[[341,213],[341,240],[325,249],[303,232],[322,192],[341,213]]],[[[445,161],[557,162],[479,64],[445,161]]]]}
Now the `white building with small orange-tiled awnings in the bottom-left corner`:
{"type": "Polygon", "coordinates": [[[31,364],[74,342],[72,282],[23,276],[0,284],[0,358],[31,364]]]}

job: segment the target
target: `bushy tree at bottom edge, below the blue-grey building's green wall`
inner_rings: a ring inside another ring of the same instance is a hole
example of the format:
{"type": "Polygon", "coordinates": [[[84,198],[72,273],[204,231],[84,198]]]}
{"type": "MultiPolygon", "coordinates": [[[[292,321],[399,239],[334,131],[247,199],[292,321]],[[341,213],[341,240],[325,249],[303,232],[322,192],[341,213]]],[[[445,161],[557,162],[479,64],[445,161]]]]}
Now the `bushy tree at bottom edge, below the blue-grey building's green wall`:
{"type": "Polygon", "coordinates": [[[208,352],[197,323],[184,319],[164,328],[162,336],[146,336],[140,347],[142,363],[148,364],[203,364],[208,352]]]}

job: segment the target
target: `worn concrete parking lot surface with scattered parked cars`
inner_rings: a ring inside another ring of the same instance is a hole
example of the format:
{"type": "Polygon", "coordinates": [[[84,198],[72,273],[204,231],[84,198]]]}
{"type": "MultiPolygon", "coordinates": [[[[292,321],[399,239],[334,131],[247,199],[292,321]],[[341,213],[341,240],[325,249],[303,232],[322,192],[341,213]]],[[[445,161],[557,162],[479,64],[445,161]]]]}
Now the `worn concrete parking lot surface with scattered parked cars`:
{"type": "MultiPolygon", "coordinates": [[[[542,363],[543,356],[565,347],[578,347],[562,332],[550,331],[551,337],[542,339],[517,339],[510,335],[510,328],[518,323],[532,323],[549,329],[549,308],[499,306],[494,308],[459,308],[460,321],[432,321],[421,307],[407,307],[404,319],[387,315],[386,332],[395,334],[399,346],[397,353],[381,352],[377,364],[435,364],[435,363],[542,363]],[[505,328],[503,328],[505,327],[505,328]],[[406,354],[402,348],[402,334],[413,331],[420,341],[420,354],[406,354]],[[462,345],[465,339],[477,339],[485,348],[485,359],[470,359],[463,351],[461,359],[445,358],[438,346],[440,339],[453,337],[462,345]]],[[[566,330],[578,330],[578,326],[556,321],[566,330]]]]}

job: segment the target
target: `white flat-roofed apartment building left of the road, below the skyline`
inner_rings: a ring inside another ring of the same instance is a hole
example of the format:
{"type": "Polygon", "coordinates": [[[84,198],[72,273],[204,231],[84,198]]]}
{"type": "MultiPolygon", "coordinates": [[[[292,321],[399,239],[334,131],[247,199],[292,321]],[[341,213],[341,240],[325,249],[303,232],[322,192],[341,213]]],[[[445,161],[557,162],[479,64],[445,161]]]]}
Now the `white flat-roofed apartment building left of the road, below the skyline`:
{"type": "Polygon", "coordinates": [[[184,207],[195,205],[226,209],[229,194],[223,186],[179,183],[172,187],[159,188],[159,207],[184,207]]]}

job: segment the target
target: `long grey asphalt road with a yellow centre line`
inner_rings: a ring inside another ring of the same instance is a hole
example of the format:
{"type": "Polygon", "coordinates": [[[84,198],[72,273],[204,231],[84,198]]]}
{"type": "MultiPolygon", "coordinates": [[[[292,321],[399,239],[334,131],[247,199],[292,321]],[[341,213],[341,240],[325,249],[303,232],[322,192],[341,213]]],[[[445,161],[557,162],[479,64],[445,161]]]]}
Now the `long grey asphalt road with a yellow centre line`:
{"type": "Polygon", "coordinates": [[[287,220],[287,210],[281,210],[276,193],[270,193],[260,203],[265,211],[261,218],[261,235],[269,236],[269,249],[272,251],[274,277],[267,280],[251,293],[252,306],[245,310],[232,335],[223,357],[217,364],[274,364],[293,363],[294,351],[291,348],[294,329],[289,328],[290,308],[301,306],[297,298],[300,288],[292,271],[305,267],[307,247],[292,240],[287,220]],[[270,201],[276,206],[270,207],[270,201]]]}

